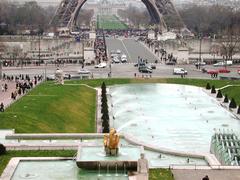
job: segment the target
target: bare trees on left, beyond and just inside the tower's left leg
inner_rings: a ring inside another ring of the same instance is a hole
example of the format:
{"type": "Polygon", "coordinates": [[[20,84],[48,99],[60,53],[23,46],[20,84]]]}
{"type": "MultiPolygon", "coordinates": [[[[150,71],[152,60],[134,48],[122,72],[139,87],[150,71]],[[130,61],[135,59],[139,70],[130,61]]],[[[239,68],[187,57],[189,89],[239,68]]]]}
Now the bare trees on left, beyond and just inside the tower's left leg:
{"type": "MultiPolygon", "coordinates": [[[[0,0],[0,35],[17,34],[20,30],[44,32],[49,29],[49,22],[57,7],[41,7],[36,1],[25,2],[23,5],[8,0],[0,0]]],[[[78,23],[89,25],[93,16],[92,10],[82,9],[78,23]]]]}

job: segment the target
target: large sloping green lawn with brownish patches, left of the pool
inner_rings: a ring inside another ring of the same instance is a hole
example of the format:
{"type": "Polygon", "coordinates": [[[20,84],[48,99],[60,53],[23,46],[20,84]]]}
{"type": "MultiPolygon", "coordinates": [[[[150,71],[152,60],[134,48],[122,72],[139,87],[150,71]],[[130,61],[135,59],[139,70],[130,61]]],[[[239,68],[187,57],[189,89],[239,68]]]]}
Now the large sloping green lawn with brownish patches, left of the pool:
{"type": "Polygon", "coordinates": [[[96,91],[44,83],[0,113],[0,129],[17,133],[95,132],[96,91]]]}

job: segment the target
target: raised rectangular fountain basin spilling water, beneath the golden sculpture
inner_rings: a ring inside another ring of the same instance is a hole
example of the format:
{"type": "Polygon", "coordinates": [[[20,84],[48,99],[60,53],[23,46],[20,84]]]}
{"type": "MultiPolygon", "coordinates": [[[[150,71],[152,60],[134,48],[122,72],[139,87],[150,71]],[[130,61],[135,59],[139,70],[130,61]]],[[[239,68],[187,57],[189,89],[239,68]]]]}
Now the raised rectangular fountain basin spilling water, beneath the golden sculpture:
{"type": "Polygon", "coordinates": [[[103,146],[79,146],[76,163],[81,169],[137,170],[137,161],[143,148],[121,146],[117,156],[107,156],[103,146]]]}

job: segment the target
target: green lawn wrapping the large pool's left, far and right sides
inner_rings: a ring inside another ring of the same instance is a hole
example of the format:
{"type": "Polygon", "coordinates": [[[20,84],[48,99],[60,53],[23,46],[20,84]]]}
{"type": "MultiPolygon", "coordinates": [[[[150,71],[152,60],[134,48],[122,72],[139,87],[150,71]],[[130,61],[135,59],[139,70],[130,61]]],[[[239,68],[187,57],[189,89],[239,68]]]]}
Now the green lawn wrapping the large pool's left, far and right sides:
{"type": "MultiPolygon", "coordinates": [[[[66,81],[66,86],[44,83],[0,113],[0,129],[15,129],[17,133],[91,133],[95,132],[96,92],[91,87],[129,83],[175,83],[216,88],[240,81],[200,79],[94,79],[66,81]]],[[[240,104],[240,87],[223,90],[240,104]]]]}

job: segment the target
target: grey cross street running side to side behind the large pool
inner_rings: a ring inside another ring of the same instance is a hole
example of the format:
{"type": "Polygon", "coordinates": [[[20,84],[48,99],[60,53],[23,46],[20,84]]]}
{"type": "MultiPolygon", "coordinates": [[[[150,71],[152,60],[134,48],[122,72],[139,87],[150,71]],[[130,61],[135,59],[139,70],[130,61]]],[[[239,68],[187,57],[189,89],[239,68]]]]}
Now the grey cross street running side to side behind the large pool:
{"type": "MultiPolygon", "coordinates": [[[[193,65],[165,65],[165,64],[156,64],[156,70],[153,70],[152,77],[162,77],[162,78],[178,78],[180,76],[173,75],[173,69],[175,67],[182,67],[188,71],[188,78],[211,78],[211,76],[207,73],[202,73],[201,71],[197,70],[193,65]]],[[[64,73],[73,73],[76,74],[78,70],[81,69],[81,65],[74,65],[74,66],[64,66],[60,67],[64,73]]],[[[106,78],[108,77],[108,73],[110,72],[109,66],[106,68],[94,68],[94,66],[85,66],[85,69],[89,70],[93,73],[94,78],[106,78]]],[[[18,69],[18,70],[11,70],[11,71],[4,71],[7,75],[19,75],[19,74],[41,74],[44,75],[44,69],[18,69]]],[[[51,75],[54,74],[56,71],[56,67],[47,67],[46,74],[51,75]]],[[[141,77],[142,74],[138,72],[138,68],[134,67],[134,64],[112,64],[111,65],[112,77],[134,77],[136,73],[137,76],[141,77]]]]}

